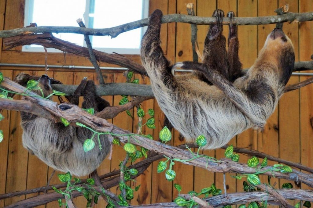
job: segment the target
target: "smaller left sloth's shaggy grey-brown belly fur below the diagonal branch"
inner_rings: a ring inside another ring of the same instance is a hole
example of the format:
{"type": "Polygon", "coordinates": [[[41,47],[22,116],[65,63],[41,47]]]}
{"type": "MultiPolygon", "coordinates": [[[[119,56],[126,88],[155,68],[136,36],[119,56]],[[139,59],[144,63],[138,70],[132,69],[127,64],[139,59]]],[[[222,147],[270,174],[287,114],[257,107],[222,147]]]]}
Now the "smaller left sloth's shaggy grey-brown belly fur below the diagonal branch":
{"type": "Polygon", "coordinates": [[[109,151],[105,136],[100,136],[104,149],[99,150],[98,141],[95,147],[88,152],[83,149],[85,139],[91,138],[92,132],[77,131],[77,127],[67,126],[59,128],[52,121],[37,117],[33,121],[22,122],[23,146],[47,165],[56,170],[76,176],[85,176],[95,170],[109,151]],[[56,128],[59,128],[56,130],[56,128]]]}

